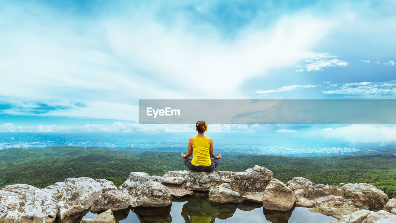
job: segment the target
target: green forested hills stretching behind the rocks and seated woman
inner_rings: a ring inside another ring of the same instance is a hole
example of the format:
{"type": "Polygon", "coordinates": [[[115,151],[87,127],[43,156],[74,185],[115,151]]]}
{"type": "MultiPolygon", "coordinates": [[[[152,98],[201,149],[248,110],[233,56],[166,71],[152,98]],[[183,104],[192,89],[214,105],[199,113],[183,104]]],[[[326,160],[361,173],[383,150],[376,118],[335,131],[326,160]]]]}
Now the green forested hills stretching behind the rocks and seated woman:
{"type": "MultiPolygon", "coordinates": [[[[284,183],[293,177],[331,185],[369,183],[384,190],[389,198],[396,198],[394,154],[320,157],[222,154],[216,170],[244,171],[254,165],[272,170],[274,177],[284,183]]],[[[70,177],[104,178],[119,186],[131,171],[162,176],[169,170],[187,170],[180,153],[73,146],[0,150],[0,188],[21,183],[44,188],[70,177]]]]}

